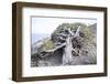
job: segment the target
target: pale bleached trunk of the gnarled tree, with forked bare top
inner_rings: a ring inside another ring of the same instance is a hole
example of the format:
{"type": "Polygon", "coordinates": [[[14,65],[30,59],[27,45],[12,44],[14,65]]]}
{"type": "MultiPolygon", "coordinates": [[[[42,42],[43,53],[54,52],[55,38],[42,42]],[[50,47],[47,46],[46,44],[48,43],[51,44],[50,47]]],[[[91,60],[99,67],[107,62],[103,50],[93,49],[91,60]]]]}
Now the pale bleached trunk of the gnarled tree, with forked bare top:
{"type": "Polygon", "coordinates": [[[63,54],[63,65],[66,65],[73,62],[72,51],[75,51],[76,53],[78,53],[75,49],[73,49],[72,38],[79,36],[79,28],[77,29],[76,33],[72,32],[70,29],[68,29],[69,34],[66,39],[66,46],[65,46],[64,54],[63,54]]]}

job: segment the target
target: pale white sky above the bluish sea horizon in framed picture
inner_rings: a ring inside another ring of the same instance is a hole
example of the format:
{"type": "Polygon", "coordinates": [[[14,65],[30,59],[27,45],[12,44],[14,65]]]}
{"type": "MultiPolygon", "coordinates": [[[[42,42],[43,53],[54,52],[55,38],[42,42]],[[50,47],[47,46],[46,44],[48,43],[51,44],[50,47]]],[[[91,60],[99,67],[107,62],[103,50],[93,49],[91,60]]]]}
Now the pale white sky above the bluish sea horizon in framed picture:
{"type": "Polygon", "coordinates": [[[94,24],[96,21],[89,19],[32,18],[32,34],[51,34],[62,23],[94,24]]]}

